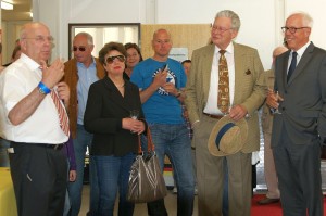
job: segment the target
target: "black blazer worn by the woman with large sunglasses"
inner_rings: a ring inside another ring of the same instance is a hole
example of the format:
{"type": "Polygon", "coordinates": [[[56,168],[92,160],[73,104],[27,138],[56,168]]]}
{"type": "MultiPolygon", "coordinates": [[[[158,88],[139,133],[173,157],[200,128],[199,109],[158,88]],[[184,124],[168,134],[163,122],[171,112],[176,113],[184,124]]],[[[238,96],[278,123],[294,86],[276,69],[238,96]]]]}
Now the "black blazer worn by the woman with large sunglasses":
{"type": "Polygon", "coordinates": [[[145,118],[136,85],[125,80],[124,97],[109,77],[90,86],[84,126],[93,134],[91,155],[123,156],[137,152],[137,134],[122,128],[122,118],[129,117],[131,110],[139,110],[139,118],[145,118]]]}

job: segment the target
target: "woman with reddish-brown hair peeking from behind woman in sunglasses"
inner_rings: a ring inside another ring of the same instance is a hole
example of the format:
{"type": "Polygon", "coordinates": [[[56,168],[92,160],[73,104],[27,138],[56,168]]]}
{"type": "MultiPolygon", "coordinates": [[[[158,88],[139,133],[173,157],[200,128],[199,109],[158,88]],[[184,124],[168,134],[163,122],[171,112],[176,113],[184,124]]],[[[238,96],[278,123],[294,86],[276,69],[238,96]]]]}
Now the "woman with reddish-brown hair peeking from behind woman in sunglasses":
{"type": "Polygon", "coordinates": [[[136,43],[128,42],[125,45],[127,51],[127,61],[125,73],[128,75],[128,79],[131,76],[134,67],[142,61],[140,49],[136,43]]]}

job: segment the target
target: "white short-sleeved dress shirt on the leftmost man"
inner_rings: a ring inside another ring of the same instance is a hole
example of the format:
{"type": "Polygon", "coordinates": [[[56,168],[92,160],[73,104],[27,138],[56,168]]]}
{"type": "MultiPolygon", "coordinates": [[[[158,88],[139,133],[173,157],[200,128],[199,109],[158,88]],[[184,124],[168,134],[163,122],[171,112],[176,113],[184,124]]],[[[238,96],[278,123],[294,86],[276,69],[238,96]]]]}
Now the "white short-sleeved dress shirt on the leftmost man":
{"type": "Polygon", "coordinates": [[[41,80],[40,65],[22,53],[21,58],[0,75],[0,136],[15,142],[59,144],[67,136],[59,124],[59,114],[49,94],[36,111],[22,124],[14,126],[8,119],[9,112],[41,80]]]}

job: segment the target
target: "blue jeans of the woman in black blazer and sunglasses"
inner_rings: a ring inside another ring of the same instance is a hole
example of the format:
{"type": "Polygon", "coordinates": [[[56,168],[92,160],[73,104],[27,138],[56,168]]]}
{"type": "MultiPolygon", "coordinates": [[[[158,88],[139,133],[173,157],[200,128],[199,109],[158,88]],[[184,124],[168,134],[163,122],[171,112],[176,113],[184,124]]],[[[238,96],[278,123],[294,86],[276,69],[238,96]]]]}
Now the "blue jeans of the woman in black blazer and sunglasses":
{"type": "Polygon", "coordinates": [[[133,216],[135,204],[127,201],[129,171],[135,154],[93,156],[99,178],[100,204],[98,216],[113,216],[118,190],[118,215],[133,216]]]}

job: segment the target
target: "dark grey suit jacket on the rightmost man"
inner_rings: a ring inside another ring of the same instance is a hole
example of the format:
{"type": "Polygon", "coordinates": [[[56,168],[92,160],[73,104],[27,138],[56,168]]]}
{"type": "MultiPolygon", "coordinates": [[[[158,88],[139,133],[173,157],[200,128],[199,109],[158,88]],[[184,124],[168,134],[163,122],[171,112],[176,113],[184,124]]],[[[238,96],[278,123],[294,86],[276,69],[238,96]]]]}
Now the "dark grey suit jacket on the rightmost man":
{"type": "Polygon", "coordinates": [[[312,42],[304,51],[289,82],[287,67],[290,51],[276,58],[275,89],[284,98],[274,116],[272,147],[278,145],[281,132],[296,144],[309,144],[326,137],[326,51],[312,42]]]}

